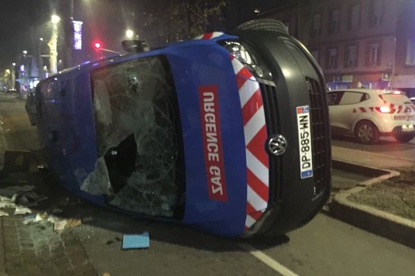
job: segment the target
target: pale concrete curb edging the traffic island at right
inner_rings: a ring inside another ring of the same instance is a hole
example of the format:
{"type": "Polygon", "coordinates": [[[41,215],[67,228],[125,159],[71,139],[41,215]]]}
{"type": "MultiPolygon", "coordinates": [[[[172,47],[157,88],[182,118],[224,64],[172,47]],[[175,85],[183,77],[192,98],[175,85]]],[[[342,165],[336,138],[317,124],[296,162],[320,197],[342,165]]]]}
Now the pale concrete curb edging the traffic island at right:
{"type": "MultiPolygon", "coordinates": [[[[344,222],[352,224],[363,230],[367,230],[375,235],[391,239],[394,242],[398,242],[405,246],[415,248],[415,221],[391,215],[382,210],[365,206],[362,204],[356,204],[355,202],[349,201],[347,197],[354,193],[359,193],[371,185],[376,184],[382,180],[390,177],[396,177],[400,175],[395,170],[379,169],[370,166],[362,166],[356,164],[348,164],[344,161],[333,160],[335,166],[342,166],[343,168],[356,168],[360,167],[359,170],[375,170],[377,172],[383,172],[382,175],[369,179],[360,183],[357,187],[345,190],[333,197],[333,201],[330,204],[330,213],[333,217],[340,219],[344,222]]],[[[356,170],[353,170],[356,171],[356,170]]]]}

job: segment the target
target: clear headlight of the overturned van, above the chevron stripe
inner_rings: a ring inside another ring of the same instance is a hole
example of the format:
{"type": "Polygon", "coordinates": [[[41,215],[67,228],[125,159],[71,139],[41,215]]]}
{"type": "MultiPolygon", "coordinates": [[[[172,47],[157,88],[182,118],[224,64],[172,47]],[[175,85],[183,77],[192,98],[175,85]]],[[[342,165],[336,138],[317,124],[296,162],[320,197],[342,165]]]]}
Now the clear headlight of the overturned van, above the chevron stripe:
{"type": "Polygon", "coordinates": [[[257,77],[264,79],[272,79],[273,75],[270,70],[259,61],[252,51],[248,50],[246,46],[239,41],[221,41],[221,46],[226,48],[234,57],[236,57],[241,63],[248,67],[250,71],[254,72],[257,77]]]}

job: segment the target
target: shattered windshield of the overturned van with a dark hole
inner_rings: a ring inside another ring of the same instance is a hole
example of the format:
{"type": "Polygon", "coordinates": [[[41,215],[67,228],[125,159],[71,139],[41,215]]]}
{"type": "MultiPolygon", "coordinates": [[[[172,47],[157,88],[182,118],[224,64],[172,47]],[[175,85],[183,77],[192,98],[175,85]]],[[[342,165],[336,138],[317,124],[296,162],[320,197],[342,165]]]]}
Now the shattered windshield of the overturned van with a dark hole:
{"type": "MultiPolygon", "coordinates": [[[[164,56],[92,74],[99,158],[82,184],[112,206],[172,217],[183,206],[178,105],[164,56]]],[[[178,212],[180,213],[180,212],[178,212]]]]}

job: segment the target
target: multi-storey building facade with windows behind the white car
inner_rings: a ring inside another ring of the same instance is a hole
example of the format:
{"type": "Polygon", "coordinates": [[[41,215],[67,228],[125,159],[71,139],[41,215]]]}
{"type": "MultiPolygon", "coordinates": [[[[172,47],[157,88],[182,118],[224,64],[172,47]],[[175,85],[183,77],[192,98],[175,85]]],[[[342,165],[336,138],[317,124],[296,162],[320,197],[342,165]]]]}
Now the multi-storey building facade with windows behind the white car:
{"type": "Polygon", "coordinates": [[[301,0],[261,16],[289,23],[291,34],[320,63],[331,89],[399,88],[411,94],[414,12],[414,0],[301,0]]]}

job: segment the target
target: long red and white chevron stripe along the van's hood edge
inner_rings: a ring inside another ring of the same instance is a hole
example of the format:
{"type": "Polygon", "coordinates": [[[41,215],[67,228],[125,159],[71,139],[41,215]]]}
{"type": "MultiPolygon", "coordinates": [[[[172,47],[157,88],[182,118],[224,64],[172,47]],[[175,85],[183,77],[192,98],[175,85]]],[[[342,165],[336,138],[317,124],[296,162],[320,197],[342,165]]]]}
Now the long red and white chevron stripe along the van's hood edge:
{"type": "Polygon", "coordinates": [[[259,83],[248,68],[233,55],[230,57],[237,79],[243,118],[246,150],[246,221],[250,228],[261,217],[268,206],[269,166],[265,151],[267,138],[264,104],[259,83]]]}

